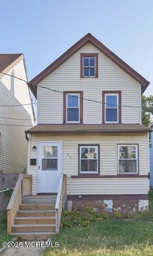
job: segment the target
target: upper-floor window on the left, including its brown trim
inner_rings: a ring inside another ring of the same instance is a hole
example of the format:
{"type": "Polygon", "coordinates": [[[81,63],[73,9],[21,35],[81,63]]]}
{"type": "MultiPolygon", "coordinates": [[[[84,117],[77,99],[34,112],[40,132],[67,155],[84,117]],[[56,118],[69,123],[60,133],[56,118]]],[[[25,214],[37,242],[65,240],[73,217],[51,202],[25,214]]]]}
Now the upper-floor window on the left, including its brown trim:
{"type": "Polygon", "coordinates": [[[63,99],[63,122],[83,122],[83,92],[65,91],[63,99]]]}

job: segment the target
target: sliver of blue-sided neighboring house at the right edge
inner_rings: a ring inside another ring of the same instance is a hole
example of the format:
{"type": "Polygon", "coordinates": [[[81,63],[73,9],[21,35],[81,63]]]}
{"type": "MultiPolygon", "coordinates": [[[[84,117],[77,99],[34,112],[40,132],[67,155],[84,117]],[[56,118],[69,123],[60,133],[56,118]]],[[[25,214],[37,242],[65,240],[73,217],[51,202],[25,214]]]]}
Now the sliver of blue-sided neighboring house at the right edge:
{"type": "MultiPolygon", "coordinates": [[[[153,122],[148,126],[153,131],[153,122]]],[[[153,189],[153,132],[150,133],[150,188],[153,189]]]]}

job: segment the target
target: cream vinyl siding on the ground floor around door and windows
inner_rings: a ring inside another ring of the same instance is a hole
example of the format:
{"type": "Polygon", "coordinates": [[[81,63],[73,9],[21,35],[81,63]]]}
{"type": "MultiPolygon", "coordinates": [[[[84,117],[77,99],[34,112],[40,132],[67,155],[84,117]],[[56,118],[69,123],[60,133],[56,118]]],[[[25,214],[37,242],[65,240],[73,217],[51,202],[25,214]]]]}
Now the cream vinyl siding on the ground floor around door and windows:
{"type": "MultiPolygon", "coordinates": [[[[100,144],[100,175],[117,175],[117,144],[139,143],[139,172],[141,175],[147,175],[149,144],[146,134],[32,134],[30,158],[37,158],[38,149],[32,151],[32,148],[37,147],[39,141],[63,141],[63,172],[67,174],[67,194],[146,194],[148,192],[147,178],[76,178],[71,179],[70,188],[70,176],[78,175],[78,144],[100,144]]],[[[33,194],[36,194],[37,166],[30,166],[29,173],[33,175],[33,194]]]]}

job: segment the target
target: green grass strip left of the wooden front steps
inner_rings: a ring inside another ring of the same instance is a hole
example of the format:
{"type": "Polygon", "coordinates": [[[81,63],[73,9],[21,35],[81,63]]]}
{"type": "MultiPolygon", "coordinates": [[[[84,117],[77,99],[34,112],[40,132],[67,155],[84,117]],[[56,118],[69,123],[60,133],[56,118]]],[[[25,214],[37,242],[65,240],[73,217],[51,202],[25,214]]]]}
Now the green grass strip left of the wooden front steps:
{"type": "Polygon", "coordinates": [[[7,234],[7,212],[0,212],[0,248],[2,242],[8,242],[13,237],[7,234]]]}

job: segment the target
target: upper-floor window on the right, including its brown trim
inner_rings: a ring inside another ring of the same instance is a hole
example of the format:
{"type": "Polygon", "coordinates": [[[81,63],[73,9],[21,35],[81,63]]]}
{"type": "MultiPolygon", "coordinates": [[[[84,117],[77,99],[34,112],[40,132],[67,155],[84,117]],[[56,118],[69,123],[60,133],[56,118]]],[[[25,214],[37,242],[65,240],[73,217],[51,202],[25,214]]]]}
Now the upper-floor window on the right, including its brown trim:
{"type": "Polygon", "coordinates": [[[121,122],[121,92],[107,91],[102,92],[102,121],[103,123],[121,122]]]}

